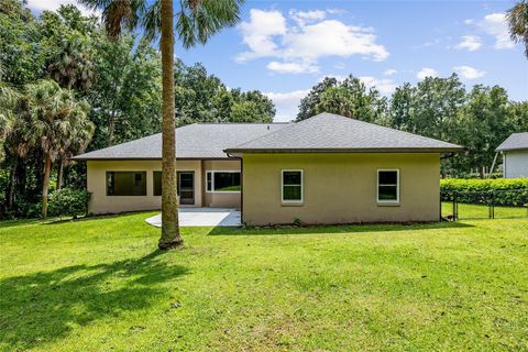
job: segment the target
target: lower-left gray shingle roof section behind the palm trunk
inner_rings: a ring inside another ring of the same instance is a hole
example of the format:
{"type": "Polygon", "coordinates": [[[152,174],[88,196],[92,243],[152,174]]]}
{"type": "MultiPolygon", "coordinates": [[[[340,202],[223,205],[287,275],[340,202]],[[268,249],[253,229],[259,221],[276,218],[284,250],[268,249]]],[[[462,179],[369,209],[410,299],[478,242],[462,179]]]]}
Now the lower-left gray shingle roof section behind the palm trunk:
{"type": "MultiPolygon", "coordinates": [[[[176,157],[227,158],[224,148],[278,131],[288,123],[194,123],[176,129],[176,157]]],[[[74,160],[158,160],[162,134],[88,152],[74,160]]]]}

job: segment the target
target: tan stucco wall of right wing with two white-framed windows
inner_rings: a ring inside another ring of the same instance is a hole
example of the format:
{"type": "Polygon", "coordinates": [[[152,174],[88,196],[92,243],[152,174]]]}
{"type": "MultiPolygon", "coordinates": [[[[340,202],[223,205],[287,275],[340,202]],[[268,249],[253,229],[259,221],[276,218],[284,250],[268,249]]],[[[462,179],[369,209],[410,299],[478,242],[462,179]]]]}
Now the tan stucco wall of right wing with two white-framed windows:
{"type": "Polygon", "coordinates": [[[438,221],[439,154],[244,154],[243,221],[249,224],[438,221]],[[399,205],[376,200],[377,169],[399,169],[399,205]],[[280,199],[280,170],[302,169],[304,202],[280,199]]]}

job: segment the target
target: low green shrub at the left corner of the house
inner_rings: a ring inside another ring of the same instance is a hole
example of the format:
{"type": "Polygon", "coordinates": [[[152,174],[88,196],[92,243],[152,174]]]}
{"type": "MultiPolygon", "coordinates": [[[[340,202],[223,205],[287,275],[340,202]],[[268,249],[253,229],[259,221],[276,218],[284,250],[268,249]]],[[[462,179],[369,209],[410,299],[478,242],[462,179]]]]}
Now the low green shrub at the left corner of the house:
{"type": "Polygon", "coordinates": [[[63,188],[50,195],[48,211],[52,216],[77,218],[88,212],[90,194],[85,189],[63,188]]]}

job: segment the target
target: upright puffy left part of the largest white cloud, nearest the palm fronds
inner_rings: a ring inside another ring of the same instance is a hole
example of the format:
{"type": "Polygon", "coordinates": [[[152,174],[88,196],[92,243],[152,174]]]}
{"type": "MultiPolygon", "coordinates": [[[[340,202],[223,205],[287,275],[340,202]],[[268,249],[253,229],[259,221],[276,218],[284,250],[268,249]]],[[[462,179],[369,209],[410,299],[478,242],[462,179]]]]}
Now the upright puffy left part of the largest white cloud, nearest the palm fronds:
{"type": "Polygon", "coordinates": [[[250,22],[242,22],[240,30],[243,34],[243,41],[251,52],[241,53],[237,57],[239,62],[275,56],[278,54],[278,46],[273,37],[286,34],[286,19],[278,11],[252,9],[250,11],[250,22]]]}

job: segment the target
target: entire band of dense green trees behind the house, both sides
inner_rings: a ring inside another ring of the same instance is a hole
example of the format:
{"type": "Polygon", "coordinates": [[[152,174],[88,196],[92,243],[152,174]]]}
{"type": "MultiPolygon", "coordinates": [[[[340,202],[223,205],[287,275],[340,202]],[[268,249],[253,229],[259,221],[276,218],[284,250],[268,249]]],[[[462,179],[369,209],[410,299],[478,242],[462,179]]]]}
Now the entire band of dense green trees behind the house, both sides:
{"type": "MultiPolygon", "coordinates": [[[[273,121],[275,107],[258,90],[229,89],[201,64],[175,68],[178,125],[273,121]]],[[[352,75],[326,77],[296,120],[322,111],[466,146],[442,161],[443,177],[483,178],[496,146],[528,131],[528,101],[509,101],[498,86],[468,90],[457,75],[404,84],[391,97],[352,75]]],[[[109,40],[97,18],[74,6],[35,18],[21,0],[0,0],[0,218],[37,215],[44,185],[52,196],[84,189],[85,165],[69,156],[160,131],[154,43],[133,33],[109,40]]]]}

